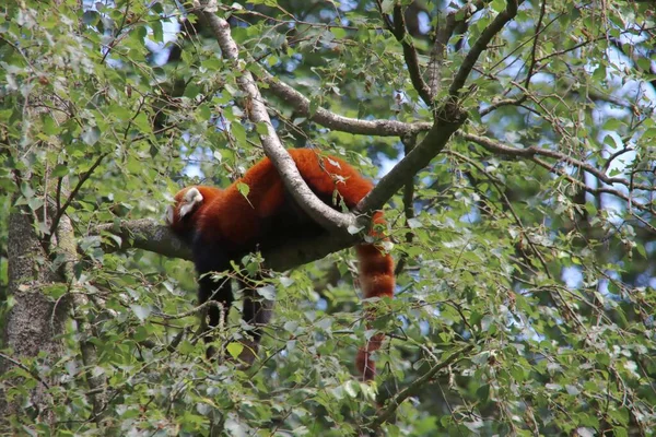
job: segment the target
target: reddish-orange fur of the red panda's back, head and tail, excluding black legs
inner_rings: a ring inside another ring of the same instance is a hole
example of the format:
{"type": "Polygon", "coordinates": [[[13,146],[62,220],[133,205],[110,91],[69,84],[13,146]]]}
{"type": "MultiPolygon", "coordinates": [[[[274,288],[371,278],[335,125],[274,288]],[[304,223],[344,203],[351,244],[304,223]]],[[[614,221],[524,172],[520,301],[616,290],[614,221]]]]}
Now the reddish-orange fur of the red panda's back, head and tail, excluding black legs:
{"type": "MultiPolygon", "coordinates": [[[[307,149],[291,150],[290,155],[311,189],[324,200],[331,199],[335,190],[348,208],[353,208],[373,188],[370,180],[340,158],[320,156],[307,149]]],[[[202,203],[186,221],[179,220],[180,201],[191,187],[185,188],[175,197],[172,229],[180,235],[196,233],[201,243],[220,243],[222,249],[234,252],[243,249],[255,250],[254,241],[267,238],[263,223],[280,214],[285,206],[285,193],[278,170],[265,158],[255,164],[244,177],[225,190],[212,187],[196,187],[203,197],[202,203]],[[238,190],[239,184],[249,187],[247,198],[238,190]],[[199,237],[200,236],[200,237],[199,237]]],[[[383,214],[374,215],[374,224],[384,224],[383,214]]],[[[379,236],[375,231],[373,236],[379,236]]],[[[394,261],[375,245],[363,244],[356,247],[360,260],[360,284],[364,298],[393,297],[395,287],[394,261]]],[[[201,272],[202,273],[202,272],[201,272]]],[[[373,317],[367,311],[367,318],[373,317]]],[[[380,347],[385,335],[374,335],[356,356],[358,369],[365,380],[375,375],[375,364],[370,354],[380,347]]]]}

